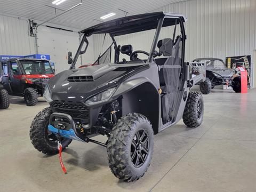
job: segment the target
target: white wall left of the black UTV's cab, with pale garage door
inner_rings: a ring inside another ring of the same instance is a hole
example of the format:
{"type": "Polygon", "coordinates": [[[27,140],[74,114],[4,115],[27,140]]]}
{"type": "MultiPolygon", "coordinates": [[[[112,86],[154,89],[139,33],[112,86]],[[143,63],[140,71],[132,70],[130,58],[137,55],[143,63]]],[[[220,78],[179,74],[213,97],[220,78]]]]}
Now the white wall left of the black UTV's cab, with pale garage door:
{"type": "MultiPolygon", "coordinates": [[[[35,38],[29,36],[28,19],[18,19],[15,17],[0,15],[0,55],[28,55],[36,54],[35,38]]],[[[41,23],[42,21],[34,21],[41,23]]],[[[79,29],[69,28],[66,26],[45,23],[53,27],[73,30],[65,31],[53,29],[46,26],[39,26],[37,29],[38,54],[50,54],[51,61],[55,63],[55,71],[59,73],[69,68],[67,64],[68,51],[73,52],[73,57],[79,45],[79,29]]],[[[93,43],[89,46],[88,52],[82,55],[85,63],[94,60],[92,50],[93,43]]],[[[83,63],[84,64],[84,63],[83,63]]],[[[77,66],[81,65],[81,58],[77,60],[77,66]]]]}

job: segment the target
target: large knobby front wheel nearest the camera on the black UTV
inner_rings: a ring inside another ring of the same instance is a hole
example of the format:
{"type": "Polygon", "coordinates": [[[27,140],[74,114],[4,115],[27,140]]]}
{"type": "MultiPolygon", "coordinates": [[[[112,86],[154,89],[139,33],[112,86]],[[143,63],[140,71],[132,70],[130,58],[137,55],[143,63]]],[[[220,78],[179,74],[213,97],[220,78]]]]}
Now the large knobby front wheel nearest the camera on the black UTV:
{"type": "Polygon", "coordinates": [[[138,180],[150,165],[153,148],[153,128],[145,116],[133,113],[121,117],[107,144],[112,173],[126,182],[138,180]]]}

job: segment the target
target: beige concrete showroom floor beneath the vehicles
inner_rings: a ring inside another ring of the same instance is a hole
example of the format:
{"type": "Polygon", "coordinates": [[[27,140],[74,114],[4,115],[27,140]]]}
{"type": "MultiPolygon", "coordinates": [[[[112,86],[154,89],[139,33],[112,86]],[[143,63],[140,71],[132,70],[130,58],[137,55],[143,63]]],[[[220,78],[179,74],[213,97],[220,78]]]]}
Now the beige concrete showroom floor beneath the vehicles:
{"type": "Polygon", "coordinates": [[[0,191],[256,191],[256,89],[214,89],[204,101],[203,124],[188,129],[180,121],[155,135],[147,173],[125,183],[93,143],[71,143],[64,175],[58,156],[39,153],[29,140],[30,123],[47,103],[27,107],[12,98],[0,111],[0,191]]]}

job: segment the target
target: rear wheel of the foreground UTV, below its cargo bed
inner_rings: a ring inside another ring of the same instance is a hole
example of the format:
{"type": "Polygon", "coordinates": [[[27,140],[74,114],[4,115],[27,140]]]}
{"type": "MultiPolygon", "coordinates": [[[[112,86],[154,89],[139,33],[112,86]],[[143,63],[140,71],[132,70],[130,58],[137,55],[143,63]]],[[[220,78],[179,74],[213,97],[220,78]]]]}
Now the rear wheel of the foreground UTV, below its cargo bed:
{"type": "Polygon", "coordinates": [[[204,100],[201,93],[189,92],[183,122],[188,127],[198,127],[201,125],[204,116],[204,100]]]}

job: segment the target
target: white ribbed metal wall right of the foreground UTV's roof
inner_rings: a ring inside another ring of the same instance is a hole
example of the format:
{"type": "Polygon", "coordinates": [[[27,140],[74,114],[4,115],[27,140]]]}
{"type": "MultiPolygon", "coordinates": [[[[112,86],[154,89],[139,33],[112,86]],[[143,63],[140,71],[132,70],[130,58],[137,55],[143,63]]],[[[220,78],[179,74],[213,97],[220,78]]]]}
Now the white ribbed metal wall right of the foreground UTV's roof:
{"type": "Polygon", "coordinates": [[[154,11],[183,13],[188,21],[186,60],[253,55],[256,47],[255,0],[191,0],[154,11]]]}

